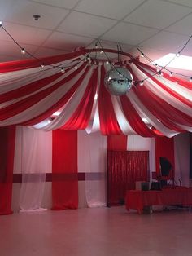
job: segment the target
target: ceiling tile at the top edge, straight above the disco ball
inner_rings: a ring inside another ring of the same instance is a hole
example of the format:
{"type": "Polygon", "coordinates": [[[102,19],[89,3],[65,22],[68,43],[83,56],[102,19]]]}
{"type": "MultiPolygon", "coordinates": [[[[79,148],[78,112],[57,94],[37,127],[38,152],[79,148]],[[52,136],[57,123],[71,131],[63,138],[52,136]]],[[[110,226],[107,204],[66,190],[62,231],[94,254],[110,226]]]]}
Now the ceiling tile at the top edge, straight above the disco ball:
{"type": "Polygon", "coordinates": [[[121,20],[142,2],[144,2],[144,0],[81,0],[75,9],[77,11],[84,11],[94,15],[102,15],[111,19],[121,20]]]}

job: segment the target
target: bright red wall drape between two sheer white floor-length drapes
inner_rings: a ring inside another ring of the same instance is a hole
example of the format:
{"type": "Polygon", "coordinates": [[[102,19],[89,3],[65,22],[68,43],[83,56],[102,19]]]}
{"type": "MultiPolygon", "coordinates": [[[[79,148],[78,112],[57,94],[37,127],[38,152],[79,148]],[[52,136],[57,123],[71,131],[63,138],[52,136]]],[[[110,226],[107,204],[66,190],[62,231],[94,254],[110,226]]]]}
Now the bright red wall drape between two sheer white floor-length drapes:
{"type": "Polygon", "coordinates": [[[78,208],[77,132],[53,130],[52,173],[68,179],[52,182],[52,210],[78,208]],[[60,175],[61,176],[61,175],[60,175]]]}

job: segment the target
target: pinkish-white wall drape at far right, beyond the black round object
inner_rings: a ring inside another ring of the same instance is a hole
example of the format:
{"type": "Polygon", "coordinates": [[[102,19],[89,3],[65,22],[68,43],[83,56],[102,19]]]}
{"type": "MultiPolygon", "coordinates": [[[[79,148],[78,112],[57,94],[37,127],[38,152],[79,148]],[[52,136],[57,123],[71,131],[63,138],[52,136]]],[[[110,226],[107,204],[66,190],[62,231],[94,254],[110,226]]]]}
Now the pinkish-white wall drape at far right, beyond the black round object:
{"type": "Polygon", "coordinates": [[[190,185],[190,134],[180,134],[174,138],[175,182],[182,186],[190,185]]]}

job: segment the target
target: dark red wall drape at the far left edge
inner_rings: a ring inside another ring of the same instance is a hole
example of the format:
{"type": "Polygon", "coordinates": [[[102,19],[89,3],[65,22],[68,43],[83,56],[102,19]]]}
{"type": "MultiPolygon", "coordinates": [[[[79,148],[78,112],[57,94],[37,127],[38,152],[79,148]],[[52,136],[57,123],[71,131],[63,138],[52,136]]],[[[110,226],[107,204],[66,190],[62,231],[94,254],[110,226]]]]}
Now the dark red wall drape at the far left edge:
{"type": "Polygon", "coordinates": [[[15,152],[15,126],[0,128],[0,215],[12,214],[11,196],[15,152]]]}

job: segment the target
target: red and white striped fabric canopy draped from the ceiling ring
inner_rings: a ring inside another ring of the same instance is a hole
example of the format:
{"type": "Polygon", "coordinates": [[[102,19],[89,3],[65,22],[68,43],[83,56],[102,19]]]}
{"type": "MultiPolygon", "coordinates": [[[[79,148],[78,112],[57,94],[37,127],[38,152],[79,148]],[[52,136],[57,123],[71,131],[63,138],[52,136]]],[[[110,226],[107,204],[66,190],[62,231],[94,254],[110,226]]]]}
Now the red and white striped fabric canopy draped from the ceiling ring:
{"type": "Polygon", "coordinates": [[[111,95],[104,86],[110,65],[85,62],[88,51],[39,60],[0,64],[0,126],[35,126],[41,130],[100,130],[103,135],[144,137],[192,131],[192,85],[169,77],[152,76],[152,65],[137,58],[126,64],[135,81],[126,95],[111,95]],[[78,68],[74,68],[78,65],[78,68]],[[54,66],[51,66],[54,65],[54,66]],[[65,73],[61,73],[61,68],[65,73]],[[98,95],[96,98],[95,95],[98,95]],[[50,118],[56,111],[59,116],[50,118]],[[38,124],[38,125],[37,125],[38,124]]]}

